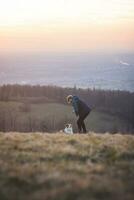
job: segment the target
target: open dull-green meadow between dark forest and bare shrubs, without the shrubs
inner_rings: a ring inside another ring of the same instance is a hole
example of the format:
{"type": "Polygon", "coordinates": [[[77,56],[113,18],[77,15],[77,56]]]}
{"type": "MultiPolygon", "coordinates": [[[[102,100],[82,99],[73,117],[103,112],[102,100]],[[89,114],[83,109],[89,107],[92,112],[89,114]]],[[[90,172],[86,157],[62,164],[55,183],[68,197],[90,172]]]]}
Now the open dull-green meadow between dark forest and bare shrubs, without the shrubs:
{"type": "MultiPolygon", "coordinates": [[[[3,111],[7,111],[5,115],[7,124],[10,121],[9,117],[15,119],[16,124],[22,124],[22,127],[23,124],[28,123],[29,118],[36,122],[44,121],[45,124],[54,123],[55,129],[59,127],[60,122],[63,124],[60,129],[64,128],[64,123],[73,123],[74,126],[76,124],[76,116],[72,112],[71,106],[58,103],[30,104],[30,111],[22,112],[20,110],[22,105],[18,102],[0,102],[2,115],[3,111]]],[[[124,120],[96,109],[90,113],[86,123],[88,130],[94,132],[117,132],[118,130],[125,130],[125,127],[127,127],[124,120]]]]}

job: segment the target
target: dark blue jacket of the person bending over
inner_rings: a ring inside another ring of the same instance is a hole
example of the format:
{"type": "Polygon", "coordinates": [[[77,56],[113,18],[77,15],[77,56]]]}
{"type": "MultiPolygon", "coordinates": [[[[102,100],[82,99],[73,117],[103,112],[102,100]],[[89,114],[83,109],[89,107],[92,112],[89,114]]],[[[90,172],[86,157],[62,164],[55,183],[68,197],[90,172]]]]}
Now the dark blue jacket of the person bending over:
{"type": "Polygon", "coordinates": [[[89,108],[89,106],[80,100],[77,96],[73,96],[72,106],[77,116],[86,115],[91,111],[91,108],[89,108]]]}

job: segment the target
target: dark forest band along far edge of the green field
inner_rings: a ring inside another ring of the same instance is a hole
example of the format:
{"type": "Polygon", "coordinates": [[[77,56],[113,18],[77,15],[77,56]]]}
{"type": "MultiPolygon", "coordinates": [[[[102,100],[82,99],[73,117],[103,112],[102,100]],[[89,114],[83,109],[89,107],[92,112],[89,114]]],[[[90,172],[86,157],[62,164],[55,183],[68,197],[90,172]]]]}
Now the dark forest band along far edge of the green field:
{"type": "MultiPolygon", "coordinates": [[[[68,94],[78,95],[92,109],[124,119],[128,122],[128,132],[134,131],[134,93],[119,90],[62,88],[40,85],[16,84],[0,86],[0,101],[17,101],[26,104],[48,102],[66,104],[66,96],[68,94]]],[[[2,124],[2,121],[0,124],[2,124]]]]}

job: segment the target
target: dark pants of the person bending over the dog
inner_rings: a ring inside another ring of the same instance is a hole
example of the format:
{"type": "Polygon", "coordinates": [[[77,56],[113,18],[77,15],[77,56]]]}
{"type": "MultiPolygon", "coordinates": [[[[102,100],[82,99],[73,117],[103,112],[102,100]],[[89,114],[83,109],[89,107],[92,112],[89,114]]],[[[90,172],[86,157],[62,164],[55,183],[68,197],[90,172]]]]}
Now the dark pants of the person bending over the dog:
{"type": "Polygon", "coordinates": [[[90,112],[87,112],[86,114],[79,115],[79,119],[77,120],[79,133],[82,132],[82,129],[83,129],[83,133],[87,132],[84,120],[88,116],[89,113],[90,112]]]}

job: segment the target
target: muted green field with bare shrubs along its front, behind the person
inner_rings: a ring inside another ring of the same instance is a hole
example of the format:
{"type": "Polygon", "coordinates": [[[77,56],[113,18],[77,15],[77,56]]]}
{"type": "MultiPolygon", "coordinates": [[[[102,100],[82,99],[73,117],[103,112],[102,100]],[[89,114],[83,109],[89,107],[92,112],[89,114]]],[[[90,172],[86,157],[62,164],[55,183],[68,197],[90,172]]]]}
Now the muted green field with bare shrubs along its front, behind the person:
{"type": "MultiPolygon", "coordinates": [[[[11,130],[28,131],[59,131],[66,123],[72,123],[77,132],[76,116],[72,107],[59,103],[30,103],[0,102],[1,115],[5,121],[5,128],[11,130]]],[[[95,132],[113,132],[124,130],[126,122],[117,116],[93,109],[86,119],[87,128],[95,132]]],[[[4,129],[4,127],[3,127],[4,129]]]]}

